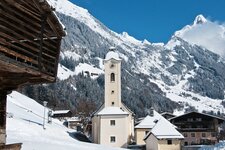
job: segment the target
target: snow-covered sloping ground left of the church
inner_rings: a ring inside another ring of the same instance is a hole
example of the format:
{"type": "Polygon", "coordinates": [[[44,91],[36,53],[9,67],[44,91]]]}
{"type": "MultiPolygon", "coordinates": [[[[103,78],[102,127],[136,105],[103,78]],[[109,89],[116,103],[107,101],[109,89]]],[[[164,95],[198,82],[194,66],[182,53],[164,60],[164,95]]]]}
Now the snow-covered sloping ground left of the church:
{"type": "MultiPolygon", "coordinates": [[[[46,122],[43,129],[44,107],[18,92],[7,96],[7,143],[22,142],[22,150],[110,150],[119,149],[79,142],[57,119],[46,122]]],[[[47,111],[46,111],[47,116],[47,111]]]]}

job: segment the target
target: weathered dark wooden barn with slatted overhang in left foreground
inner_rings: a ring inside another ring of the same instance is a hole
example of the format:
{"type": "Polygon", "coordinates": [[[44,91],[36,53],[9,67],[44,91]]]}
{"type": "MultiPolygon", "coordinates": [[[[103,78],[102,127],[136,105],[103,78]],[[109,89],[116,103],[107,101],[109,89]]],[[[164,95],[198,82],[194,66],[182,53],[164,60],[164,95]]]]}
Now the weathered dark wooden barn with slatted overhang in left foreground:
{"type": "Polygon", "coordinates": [[[0,145],[5,144],[7,92],[54,82],[63,36],[46,0],[0,0],[0,145]]]}

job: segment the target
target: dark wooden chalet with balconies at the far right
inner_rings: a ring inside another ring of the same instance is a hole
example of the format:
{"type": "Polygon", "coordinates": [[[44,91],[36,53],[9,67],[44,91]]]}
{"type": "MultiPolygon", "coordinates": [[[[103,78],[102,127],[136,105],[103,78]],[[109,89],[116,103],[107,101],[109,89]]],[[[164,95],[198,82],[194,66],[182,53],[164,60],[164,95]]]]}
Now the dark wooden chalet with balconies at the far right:
{"type": "Polygon", "coordinates": [[[190,112],[170,119],[184,135],[184,145],[217,143],[218,128],[224,119],[199,112],[190,112]]]}

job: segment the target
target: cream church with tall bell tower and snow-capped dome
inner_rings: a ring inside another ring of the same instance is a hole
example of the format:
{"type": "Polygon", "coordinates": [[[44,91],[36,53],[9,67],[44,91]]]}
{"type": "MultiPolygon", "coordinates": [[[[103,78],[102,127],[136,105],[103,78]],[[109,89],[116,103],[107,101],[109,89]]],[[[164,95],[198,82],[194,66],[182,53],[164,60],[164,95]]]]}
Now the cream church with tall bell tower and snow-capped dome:
{"type": "Polygon", "coordinates": [[[96,144],[124,147],[134,136],[134,116],[121,102],[121,59],[111,47],[103,61],[104,104],[92,116],[92,138],[96,144]]]}

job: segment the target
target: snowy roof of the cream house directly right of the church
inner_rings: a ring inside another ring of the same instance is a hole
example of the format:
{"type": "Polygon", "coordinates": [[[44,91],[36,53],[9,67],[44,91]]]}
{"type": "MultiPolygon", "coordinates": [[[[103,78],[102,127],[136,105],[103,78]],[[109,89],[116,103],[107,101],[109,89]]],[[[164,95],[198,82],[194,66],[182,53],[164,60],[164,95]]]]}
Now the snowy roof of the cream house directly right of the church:
{"type": "Polygon", "coordinates": [[[135,126],[135,129],[137,128],[149,128],[152,129],[156,122],[162,118],[163,116],[160,115],[157,111],[153,110],[154,115],[153,116],[146,116],[138,125],[135,126]]]}

